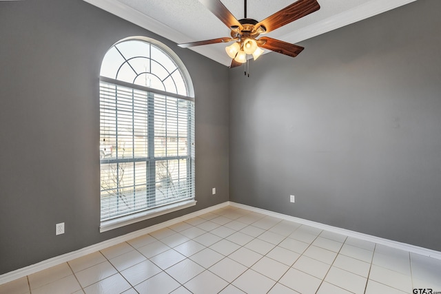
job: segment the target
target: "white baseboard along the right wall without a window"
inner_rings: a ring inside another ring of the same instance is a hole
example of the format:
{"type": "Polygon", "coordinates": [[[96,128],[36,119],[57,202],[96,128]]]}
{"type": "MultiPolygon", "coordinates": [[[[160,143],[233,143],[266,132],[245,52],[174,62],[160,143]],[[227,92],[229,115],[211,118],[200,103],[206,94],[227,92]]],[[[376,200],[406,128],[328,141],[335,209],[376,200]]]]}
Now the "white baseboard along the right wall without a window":
{"type": "Polygon", "coordinates": [[[239,204],[236,202],[228,202],[228,204],[233,207],[238,207],[238,208],[247,209],[247,210],[258,212],[258,213],[263,213],[267,216],[274,216],[276,218],[282,218],[283,220],[289,220],[291,222],[298,222],[299,224],[307,224],[308,226],[316,227],[318,229],[327,230],[327,231],[331,231],[334,233],[339,233],[341,235],[347,235],[349,237],[358,238],[360,240],[365,240],[365,241],[369,241],[369,242],[373,242],[373,243],[377,243],[377,244],[382,244],[384,246],[389,246],[392,248],[401,249],[404,251],[409,251],[411,253],[424,255],[429,258],[436,258],[438,260],[441,260],[441,252],[440,251],[435,251],[435,250],[427,249],[427,248],[420,247],[420,246],[415,246],[415,245],[411,245],[411,244],[388,240],[388,239],[376,237],[373,235],[367,235],[365,233],[359,233],[356,231],[341,229],[338,227],[332,227],[332,226],[329,226],[328,224],[322,224],[320,222],[313,222],[311,220],[305,220],[303,218],[296,218],[294,216],[287,216],[286,214],[277,213],[274,211],[269,211],[269,210],[260,209],[260,208],[256,208],[256,207],[250,207],[248,205],[239,204]]]}

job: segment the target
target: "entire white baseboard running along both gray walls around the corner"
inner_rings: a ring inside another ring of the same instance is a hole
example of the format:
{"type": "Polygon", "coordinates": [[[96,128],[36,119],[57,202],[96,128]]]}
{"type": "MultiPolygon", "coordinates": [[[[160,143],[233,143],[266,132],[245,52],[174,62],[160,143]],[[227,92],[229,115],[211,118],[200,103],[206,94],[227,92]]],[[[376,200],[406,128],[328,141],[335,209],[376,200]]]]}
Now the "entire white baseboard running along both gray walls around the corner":
{"type": "Polygon", "coordinates": [[[105,241],[100,242],[98,244],[94,244],[94,245],[85,247],[83,249],[79,249],[77,251],[65,253],[63,255],[59,255],[54,258],[50,258],[48,260],[43,260],[42,262],[39,262],[37,264],[25,266],[22,269],[10,271],[9,273],[4,273],[3,275],[0,275],[0,284],[5,284],[7,282],[17,280],[21,277],[25,277],[26,275],[31,275],[32,273],[37,273],[38,271],[43,271],[44,269],[49,269],[50,267],[56,266],[58,264],[62,264],[63,262],[68,262],[68,261],[74,260],[76,258],[81,258],[85,255],[90,254],[90,253],[94,253],[96,251],[103,250],[107,247],[114,246],[114,245],[119,244],[121,242],[126,242],[128,240],[132,240],[134,238],[140,237],[141,235],[145,235],[147,233],[151,233],[153,231],[157,231],[157,230],[163,229],[165,227],[170,227],[171,225],[177,224],[178,222],[183,222],[184,220],[188,220],[190,218],[195,218],[196,216],[201,216],[201,215],[208,213],[210,211],[214,211],[216,209],[227,207],[229,205],[231,205],[232,207],[238,207],[241,209],[247,209],[249,211],[263,213],[266,216],[273,216],[275,218],[281,218],[283,220],[289,220],[291,222],[298,222],[299,224],[307,224],[308,226],[316,227],[318,229],[323,229],[323,230],[331,231],[334,233],[347,235],[349,237],[358,238],[360,240],[366,240],[369,242],[374,242],[377,244],[382,244],[382,245],[393,247],[396,249],[402,249],[405,251],[409,251],[411,253],[416,253],[416,254],[428,256],[430,258],[436,258],[438,260],[441,260],[441,252],[440,251],[434,251],[431,249],[426,249],[426,248],[414,246],[411,244],[396,242],[393,240],[387,240],[387,239],[379,238],[379,237],[376,237],[373,235],[367,235],[365,233],[358,233],[356,231],[350,231],[347,229],[332,227],[332,226],[329,226],[328,224],[321,224],[320,222],[313,222],[311,220],[296,218],[294,216],[287,216],[286,214],[276,213],[274,211],[269,211],[269,210],[260,209],[260,208],[256,208],[256,207],[250,207],[245,204],[239,204],[236,202],[227,201],[227,202],[223,202],[223,203],[214,205],[213,207],[208,207],[206,209],[201,209],[199,211],[189,213],[185,216],[174,218],[172,220],[167,220],[166,222],[161,222],[161,224],[154,224],[151,227],[147,227],[147,228],[141,229],[139,231],[134,231],[132,233],[127,233],[126,235],[121,235],[119,237],[112,238],[110,240],[105,240],[105,241]]]}

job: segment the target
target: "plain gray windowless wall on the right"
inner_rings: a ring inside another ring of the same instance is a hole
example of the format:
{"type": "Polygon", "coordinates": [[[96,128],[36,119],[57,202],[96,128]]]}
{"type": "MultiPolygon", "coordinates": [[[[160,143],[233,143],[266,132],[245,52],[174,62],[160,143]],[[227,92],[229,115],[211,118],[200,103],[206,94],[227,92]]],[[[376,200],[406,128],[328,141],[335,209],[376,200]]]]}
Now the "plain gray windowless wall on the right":
{"type": "Polygon", "coordinates": [[[441,251],[440,11],[416,1],[232,70],[230,200],[441,251]]]}

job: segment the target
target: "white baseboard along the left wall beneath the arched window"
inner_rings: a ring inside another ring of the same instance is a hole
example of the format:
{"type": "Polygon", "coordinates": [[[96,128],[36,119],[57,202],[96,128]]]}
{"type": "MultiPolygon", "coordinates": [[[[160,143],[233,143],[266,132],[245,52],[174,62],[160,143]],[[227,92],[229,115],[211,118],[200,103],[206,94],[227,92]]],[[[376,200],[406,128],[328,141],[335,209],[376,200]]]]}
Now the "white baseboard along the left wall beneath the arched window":
{"type": "Polygon", "coordinates": [[[32,275],[32,273],[37,273],[38,271],[43,271],[44,269],[49,269],[52,266],[56,266],[62,264],[63,262],[68,262],[70,260],[74,260],[76,258],[81,258],[90,253],[94,253],[99,250],[103,250],[107,247],[114,246],[121,242],[126,242],[128,240],[132,240],[134,238],[140,237],[141,235],[145,235],[147,233],[152,233],[153,231],[157,231],[159,229],[163,229],[166,227],[170,227],[173,224],[177,224],[178,222],[183,222],[184,220],[189,220],[190,218],[194,218],[196,216],[201,216],[210,211],[214,211],[216,209],[220,209],[223,207],[227,207],[228,202],[223,202],[212,207],[208,207],[206,209],[201,209],[195,211],[193,213],[186,214],[185,216],[181,216],[178,218],[174,218],[172,220],[167,220],[166,222],[161,222],[160,224],[154,224],[151,227],[147,227],[145,229],[141,229],[139,231],[134,231],[132,233],[127,233],[125,235],[121,235],[116,238],[112,238],[110,240],[105,240],[103,242],[93,244],[91,246],[85,247],[83,249],[79,249],[76,251],[72,251],[69,253],[65,253],[63,255],[56,256],[54,258],[50,258],[48,260],[43,260],[37,264],[32,264],[30,266],[25,266],[21,269],[17,269],[15,271],[10,271],[9,273],[4,273],[0,275],[0,285],[6,284],[13,280],[17,280],[21,277],[25,277],[26,275],[32,275]]]}

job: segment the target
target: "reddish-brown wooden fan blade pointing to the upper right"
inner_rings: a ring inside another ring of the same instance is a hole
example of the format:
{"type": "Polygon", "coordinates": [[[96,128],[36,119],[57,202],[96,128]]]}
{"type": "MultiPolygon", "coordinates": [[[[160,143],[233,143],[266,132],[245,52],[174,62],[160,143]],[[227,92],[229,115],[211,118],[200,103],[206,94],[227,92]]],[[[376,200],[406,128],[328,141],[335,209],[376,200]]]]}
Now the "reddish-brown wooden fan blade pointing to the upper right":
{"type": "Polygon", "coordinates": [[[260,21],[260,23],[256,25],[256,28],[258,28],[259,25],[263,25],[267,29],[267,32],[270,32],[319,9],[320,5],[316,0],[298,0],[283,8],[283,10],[260,21]]]}

